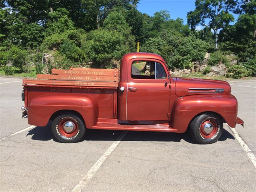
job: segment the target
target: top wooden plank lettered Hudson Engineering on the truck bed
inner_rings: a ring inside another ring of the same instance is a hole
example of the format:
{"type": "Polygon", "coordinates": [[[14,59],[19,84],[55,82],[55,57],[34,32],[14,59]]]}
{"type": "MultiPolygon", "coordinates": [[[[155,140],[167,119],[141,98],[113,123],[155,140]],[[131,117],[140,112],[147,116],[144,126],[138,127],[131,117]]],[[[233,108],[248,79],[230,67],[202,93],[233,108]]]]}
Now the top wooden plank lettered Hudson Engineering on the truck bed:
{"type": "Polygon", "coordinates": [[[113,75],[118,76],[118,69],[92,69],[92,68],[73,68],[73,69],[52,69],[52,74],[84,74],[84,75],[113,75]]]}

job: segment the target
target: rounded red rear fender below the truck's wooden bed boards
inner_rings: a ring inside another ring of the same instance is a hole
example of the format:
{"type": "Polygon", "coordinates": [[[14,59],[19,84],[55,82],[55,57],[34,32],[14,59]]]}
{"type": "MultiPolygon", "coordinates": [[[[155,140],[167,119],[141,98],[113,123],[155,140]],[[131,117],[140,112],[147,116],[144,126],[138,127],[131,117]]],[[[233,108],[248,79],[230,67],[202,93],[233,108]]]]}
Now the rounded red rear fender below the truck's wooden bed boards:
{"type": "Polygon", "coordinates": [[[78,112],[87,128],[96,124],[98,103],[86,96],[71,96],[68,93],[37,96],[28,105],[28,124],[46,126],[52,114],[59,110],[78,112]]]}

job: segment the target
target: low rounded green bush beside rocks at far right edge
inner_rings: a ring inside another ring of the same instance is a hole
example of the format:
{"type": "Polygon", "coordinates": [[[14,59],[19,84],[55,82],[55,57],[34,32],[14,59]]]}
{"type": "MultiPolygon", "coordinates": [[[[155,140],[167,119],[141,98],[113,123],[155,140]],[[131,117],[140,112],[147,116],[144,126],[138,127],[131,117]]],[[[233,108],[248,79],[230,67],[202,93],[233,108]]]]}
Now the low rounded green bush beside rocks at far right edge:
{"type": "Polygon", "coordinates": [[[226,76],[239,79],[241,77],[248,77],[252,75],[252,70],[247,69],[242,65],[233,65],[228,68],[226,76]]]}

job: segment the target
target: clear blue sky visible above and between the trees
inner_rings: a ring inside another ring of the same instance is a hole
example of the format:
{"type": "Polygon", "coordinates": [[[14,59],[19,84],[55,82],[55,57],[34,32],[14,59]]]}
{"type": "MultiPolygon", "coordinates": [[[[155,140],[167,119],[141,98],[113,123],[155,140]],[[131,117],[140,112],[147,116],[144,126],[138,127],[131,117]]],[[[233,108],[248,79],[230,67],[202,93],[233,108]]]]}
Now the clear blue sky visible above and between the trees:
{"type": "MultiPolygon", "coordinates": [[[[155,12],[160,10],[168,10],[171,19],[182,18],[184,24],[187,24],[187,12],[195,9],[195,0],[140,0],[138,10],[153,16],[155,12]]],[[[237,15],[234,15],[235,19],[237,15]]],[[[234,24],[234,23],[231,23],[234,24]]],[[[198,26],[197,30],[202,29],[198,26]]]]}

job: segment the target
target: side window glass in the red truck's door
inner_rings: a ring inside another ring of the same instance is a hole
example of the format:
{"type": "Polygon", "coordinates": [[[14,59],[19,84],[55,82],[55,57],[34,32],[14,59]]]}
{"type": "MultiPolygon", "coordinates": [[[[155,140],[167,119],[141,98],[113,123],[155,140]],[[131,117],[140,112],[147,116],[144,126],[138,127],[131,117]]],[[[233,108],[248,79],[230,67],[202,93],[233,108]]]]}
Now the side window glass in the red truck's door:
{"type": "Polygon", "coordinates": [[[132,63],[133,79],[165,79],[163,66],[153,61],[135,61],[132,63]]]}

